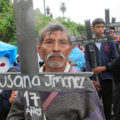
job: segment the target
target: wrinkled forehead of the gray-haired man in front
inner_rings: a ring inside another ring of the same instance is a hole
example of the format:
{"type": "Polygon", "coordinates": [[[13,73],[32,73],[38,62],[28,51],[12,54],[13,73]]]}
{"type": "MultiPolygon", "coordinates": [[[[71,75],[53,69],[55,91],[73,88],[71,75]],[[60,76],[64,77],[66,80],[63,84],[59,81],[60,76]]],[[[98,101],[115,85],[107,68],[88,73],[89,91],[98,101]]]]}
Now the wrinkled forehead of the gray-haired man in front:
{"type": "Polygon", "coordinates": [[[45,33],[44,33],[44,36],[43,36],[43,39],[44,39],[45,37],[50,38],[50,37],[52,37],[52,36],[68,39],[68,34],[67,34],[66,32],[60,31],[60,30],[59,30],[59,31],[47,31],[47,32],[45,32],[45,33]]]}

